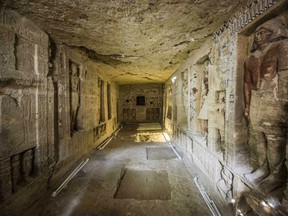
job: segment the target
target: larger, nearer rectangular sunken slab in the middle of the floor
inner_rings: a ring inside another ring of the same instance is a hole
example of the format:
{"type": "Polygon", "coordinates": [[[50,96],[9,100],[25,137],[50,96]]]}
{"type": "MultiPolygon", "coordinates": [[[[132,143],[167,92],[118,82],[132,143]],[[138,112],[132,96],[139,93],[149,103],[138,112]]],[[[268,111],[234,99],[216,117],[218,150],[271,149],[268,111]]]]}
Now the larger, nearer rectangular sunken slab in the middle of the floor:
{"type": "Polygon", "coordinates": [[[169,200],[171,186],[166,170],[127,169],[118,186],[116,199],[169,200]]]}

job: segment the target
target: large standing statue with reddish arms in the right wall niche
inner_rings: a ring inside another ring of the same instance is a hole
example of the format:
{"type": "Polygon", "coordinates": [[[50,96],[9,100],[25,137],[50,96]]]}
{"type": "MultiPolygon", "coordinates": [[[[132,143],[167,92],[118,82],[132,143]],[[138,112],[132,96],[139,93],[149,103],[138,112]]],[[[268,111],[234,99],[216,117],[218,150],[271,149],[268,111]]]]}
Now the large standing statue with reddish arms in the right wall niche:
{"type": "Polygon", "coordinates": [[[280,19],[262,24],[255,31],[252,53],[245,62],[245,116],[259,162],[245,177],[266,192],[283,186],[286,180],[287,36],[280,19]]]}

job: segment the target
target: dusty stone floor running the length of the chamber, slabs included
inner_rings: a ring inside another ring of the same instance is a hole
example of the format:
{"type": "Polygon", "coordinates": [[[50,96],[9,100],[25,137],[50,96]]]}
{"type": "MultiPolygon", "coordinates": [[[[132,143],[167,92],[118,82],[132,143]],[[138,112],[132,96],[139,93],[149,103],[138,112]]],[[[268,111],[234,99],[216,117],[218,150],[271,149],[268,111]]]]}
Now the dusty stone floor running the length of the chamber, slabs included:
{"type": "Polygon", "coordinates": [[[139,142],[137,132],[126,125],[103,150],[87,156],[84,169],[56,197],[49,192],[25,215],[211,215],[183,161],[167,153],[169,143],[155,131],[151,136],[159,142],[139,142]],[[148,160],[152,148],[157,152],[148,160]],[[161,149],[169,157],[157,159],[161,149]]]}

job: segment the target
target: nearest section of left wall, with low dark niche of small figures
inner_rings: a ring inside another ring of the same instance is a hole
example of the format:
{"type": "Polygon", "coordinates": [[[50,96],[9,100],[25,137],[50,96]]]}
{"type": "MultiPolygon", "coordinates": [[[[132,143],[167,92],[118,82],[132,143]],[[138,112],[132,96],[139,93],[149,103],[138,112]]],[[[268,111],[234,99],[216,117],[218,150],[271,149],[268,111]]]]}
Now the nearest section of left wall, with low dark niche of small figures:
{"type": "Polygon", "coordinates": [[[49,170],[54,115],[53,101],[47,96],[53,94],[49,87],[51,80],[47,79],[48,36],[18,14],[1,11],[0,41],[0,202],[3,202],[49,170]]]}

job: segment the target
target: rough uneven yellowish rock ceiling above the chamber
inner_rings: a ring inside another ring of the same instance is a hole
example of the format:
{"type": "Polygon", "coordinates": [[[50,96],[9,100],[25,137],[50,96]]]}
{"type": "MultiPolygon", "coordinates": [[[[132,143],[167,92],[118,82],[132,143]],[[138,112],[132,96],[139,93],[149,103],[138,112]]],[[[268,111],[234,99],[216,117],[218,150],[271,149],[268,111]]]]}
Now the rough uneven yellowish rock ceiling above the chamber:
{"type": "Polygon", "coordinates": [[[247,0],[4,0],[119,84],[166,81],[247,0]]]}

